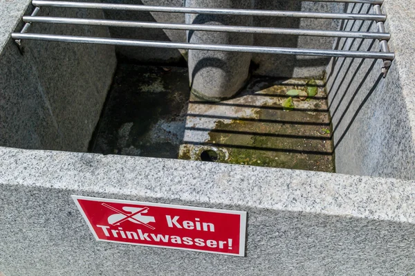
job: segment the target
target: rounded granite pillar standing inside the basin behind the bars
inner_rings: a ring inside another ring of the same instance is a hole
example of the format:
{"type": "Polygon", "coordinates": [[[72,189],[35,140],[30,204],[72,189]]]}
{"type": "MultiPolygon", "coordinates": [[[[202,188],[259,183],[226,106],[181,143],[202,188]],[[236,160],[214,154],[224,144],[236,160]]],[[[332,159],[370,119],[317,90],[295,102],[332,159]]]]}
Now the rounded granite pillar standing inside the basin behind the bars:
{"type": "MultiPolygon", "coordinates": [[[[187,7],[253,8],[253,0],[186,0],[187,7]]],[[[186,15],[187,24],[252,26],[252,17],[228,15],[186,15]]],[[[188,31],[187,41],[195,44],[252,45],[253,35],[188,31]]],[[[189,51],[189,74],[192,93],[208,101],[231,98],[248,80],[250,53],[189,51]]]]}

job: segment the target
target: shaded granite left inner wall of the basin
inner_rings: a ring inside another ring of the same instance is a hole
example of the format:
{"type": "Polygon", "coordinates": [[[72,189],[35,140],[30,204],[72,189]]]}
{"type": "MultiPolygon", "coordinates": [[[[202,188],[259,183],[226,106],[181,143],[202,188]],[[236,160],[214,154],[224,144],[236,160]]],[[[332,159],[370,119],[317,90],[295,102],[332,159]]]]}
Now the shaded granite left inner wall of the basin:
{"type": "MultiPolygon", "coordinates": [[[[26,6],[20,8],[16,22],[26,6]]],[[[39,15],[103,17],[96,10],[48,8],[39,15]]],[[[23,41],[21,54],[10,39],[15,27],[3,33],[8,41],[0,50],[0,145],[86,151],[112,82],[115,48],[23,41]]],[[[33,24],[30,32],[109,37],[107,28],[57,24],[33,24]]]]}

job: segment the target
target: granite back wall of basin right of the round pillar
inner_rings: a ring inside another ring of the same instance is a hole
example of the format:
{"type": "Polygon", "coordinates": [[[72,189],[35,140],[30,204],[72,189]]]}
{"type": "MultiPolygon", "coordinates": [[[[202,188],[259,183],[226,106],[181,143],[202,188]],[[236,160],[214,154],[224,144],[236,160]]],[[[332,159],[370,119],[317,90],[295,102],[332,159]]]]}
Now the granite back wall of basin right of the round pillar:
{"type": "MultiPolygon", "coordinates": [[[[257,0],[259,10],[294,10],[303,12],[344,12],[342,3],[257,0]]],[[[331,19],[299,19],[289,17],[255,17],[255,26],[273,28],[302,28],[311,30],[337,30],[340,22],[331,19]]],[[[304,37],[297,35],[255,35],[256,46],[288,48],[331,49],[331,37],[304,37]]],[[[307,57],[301,55],[254,54],[252,62],[257,64],[255,75],[275,77],[322,77],[329,57],[307,57]]]]}

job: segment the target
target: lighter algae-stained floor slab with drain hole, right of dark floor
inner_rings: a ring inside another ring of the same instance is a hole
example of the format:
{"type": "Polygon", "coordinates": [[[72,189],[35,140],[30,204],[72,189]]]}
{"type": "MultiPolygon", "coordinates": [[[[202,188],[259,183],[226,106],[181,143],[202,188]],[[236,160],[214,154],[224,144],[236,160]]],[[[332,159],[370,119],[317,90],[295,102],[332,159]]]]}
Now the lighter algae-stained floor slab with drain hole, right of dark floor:
{"type": "Polygon", "coordinates": [[[306,82],[254,77],[232,100],[192,98],[179,157],[204,160],[216,151],[223,163],[334,172],[324,83],[317,82],[315,98],[295,97],[294,110],[284,111],[286,93],[306,90],[306,82]]]}

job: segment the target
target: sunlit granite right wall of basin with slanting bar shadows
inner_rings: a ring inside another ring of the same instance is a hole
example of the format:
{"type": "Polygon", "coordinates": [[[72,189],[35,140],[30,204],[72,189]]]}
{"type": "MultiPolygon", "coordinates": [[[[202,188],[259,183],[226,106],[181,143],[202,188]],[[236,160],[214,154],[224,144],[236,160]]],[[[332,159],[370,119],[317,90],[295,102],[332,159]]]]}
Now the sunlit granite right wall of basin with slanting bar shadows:
{"type": "MultiPolygon", "coordinates": [[[[333,59],[327,89],[333,117],[336,171],[344,174],[415,179],[415,17],[407,4],[386,1],[389,46],[396,53],[382,78],[382,61],[333,59]]],[[[368,5],[349,6],[365,12],[368,5]]],[[[344,23],[345,30],[376,31],[375,24],[344,23]]],[[[340,39],[338,49],[379,50],[378,41],[340,39]]]]}

